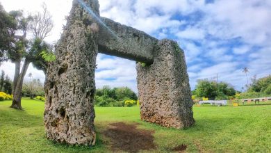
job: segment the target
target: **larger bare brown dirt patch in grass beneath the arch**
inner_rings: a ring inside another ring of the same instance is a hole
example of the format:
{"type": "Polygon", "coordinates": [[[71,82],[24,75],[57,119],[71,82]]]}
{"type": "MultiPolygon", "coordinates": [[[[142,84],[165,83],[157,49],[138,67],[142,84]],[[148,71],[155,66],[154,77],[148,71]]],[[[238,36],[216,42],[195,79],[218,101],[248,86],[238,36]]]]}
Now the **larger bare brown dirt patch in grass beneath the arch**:
{"type": "Polygon", "coordinates": [[[110,138],[111,150],[117,152],[139,152],[140,150],[154,150],[154,131],[137,129],[138,124],[125,124],[115,122],[104,131],[104,135],[110,138]]]}

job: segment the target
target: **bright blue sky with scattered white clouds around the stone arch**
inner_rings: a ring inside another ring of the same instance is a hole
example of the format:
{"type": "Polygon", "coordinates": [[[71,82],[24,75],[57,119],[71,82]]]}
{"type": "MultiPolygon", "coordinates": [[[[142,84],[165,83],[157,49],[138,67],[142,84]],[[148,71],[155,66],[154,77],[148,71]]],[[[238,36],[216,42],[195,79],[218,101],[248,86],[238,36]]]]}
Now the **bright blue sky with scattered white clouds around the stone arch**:
{"type": "MultiPolygon", "coordinates": [[[[9,4],[14,0],[1,2],[4,8],[15,9],[9,4]]],[[[33,3],[40,5],[42,1],[33,3]]],[[[55,19],[53,33],[60,33],[61,17],[67,15],[72,1],[45,3],[55,19]]],[[[249,68],[249,77],[255,74],[258,78],[265,77],[271,72],[271,1],[107,0],[99,3],[101,16],[159,39],[176,40],[186,54],[191,88],[195,88],[197,79],[216,79],[218,75],[219,81],[231,83],[240,90],[246,83],[243,67],[249,68]]],[[[24,9],[31,10],[27,7],[24,9]]],[[[47,41],[55,42],[58,38],[59,35],[53,34],[47,41]]],[[[134,61],[99,54],[97,64],[98,88],[129,86],[136,90],[134,61]]],[[[5,64],[0,68],[4,67],[5,64]]],[[[42,74],[37,72],[37,76],[42,74]]]]}

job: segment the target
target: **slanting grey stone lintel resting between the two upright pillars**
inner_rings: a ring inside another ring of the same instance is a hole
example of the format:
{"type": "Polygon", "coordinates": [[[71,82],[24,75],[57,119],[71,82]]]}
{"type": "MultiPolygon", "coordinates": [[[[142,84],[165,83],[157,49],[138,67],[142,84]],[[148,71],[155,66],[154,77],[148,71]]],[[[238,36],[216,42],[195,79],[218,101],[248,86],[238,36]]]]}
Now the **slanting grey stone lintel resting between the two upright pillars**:
{"type": "Polygon", "coordinates": [[[151,64],[154,46],[158,40],[142,31],[101,17],[107,28],[99,31],[99,52],[151,64]],[[110,30],[108,30],[110,29],[110,30]]]}

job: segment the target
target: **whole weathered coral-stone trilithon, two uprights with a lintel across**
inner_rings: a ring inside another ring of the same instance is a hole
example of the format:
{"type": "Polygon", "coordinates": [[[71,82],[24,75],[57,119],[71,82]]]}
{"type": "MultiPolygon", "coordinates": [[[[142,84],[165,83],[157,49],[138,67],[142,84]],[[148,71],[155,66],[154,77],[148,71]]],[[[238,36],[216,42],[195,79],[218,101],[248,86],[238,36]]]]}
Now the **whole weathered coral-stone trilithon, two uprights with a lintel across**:
{"type": "Polygon", "coordinates": [[[95,145],[98,52],[137,62],[142,120],[177,129],[194,124],[186,61],[179,45],[99,17],[98,0],[74,0],[44,83],[47,138],[95,145]]]}

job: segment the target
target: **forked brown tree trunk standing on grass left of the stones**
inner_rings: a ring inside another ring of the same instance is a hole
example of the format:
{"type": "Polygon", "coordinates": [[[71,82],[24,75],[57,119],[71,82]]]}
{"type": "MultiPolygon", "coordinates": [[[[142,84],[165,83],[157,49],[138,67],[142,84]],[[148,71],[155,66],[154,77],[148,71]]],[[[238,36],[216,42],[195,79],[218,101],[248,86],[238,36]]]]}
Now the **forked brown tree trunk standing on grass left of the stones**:
{"type": "Polygon", "coordinates": [[[26,75],[29,64],[30,61],[26,59],[24,61],[24,66],[22,67],[22,72],[19,74],[19,77],[17,77],[15,84],[13,85],[13,104],[10,106],[11,108],[22,109],[22,84],[24,82],[24,76],[26,75]]]}

